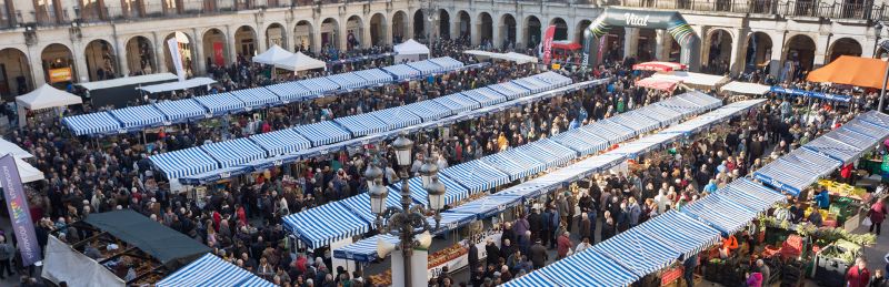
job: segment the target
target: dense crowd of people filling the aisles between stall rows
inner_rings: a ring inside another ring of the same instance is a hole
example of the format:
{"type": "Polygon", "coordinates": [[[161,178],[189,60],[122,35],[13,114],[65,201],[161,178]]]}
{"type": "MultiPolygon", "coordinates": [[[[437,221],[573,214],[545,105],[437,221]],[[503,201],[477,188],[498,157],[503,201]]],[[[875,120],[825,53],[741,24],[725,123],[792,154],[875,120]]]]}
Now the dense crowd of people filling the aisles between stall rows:
{"type": "MultiPolygon", "coordinates": [[[[437,41],[430,49],[433,55],[449,55],[466,63],[476,61],[461,53],[467,49],[465,41],[437,41]]],[[[386,51],[388,48],[349,53],[328,50],[317,57],[336,60],[386,51]]],[[[417,161],[421,162],[434,150],[441,170],[670,96],[671,93],[635,86],[640,73],[630,69],[632,62],[608,61],[592,71],[566,65],[558,72],[575,82],[601,78],[612,81],[455,124],[447,136],[437,132],[416,135],[417,161]]],[[[352,62],[340,69],[352,71],[388,64],[392,64],[391,58],[352,62]]],[[[266,69],[247,59],[239,59],[229,68],[211,66],[208,73],[220,85],[209,92],[297,79],[266,78],[262,75],[266,69]]],[[[171,191],[167,178],[151,167],[148,156],[404,105],[538,72],[529,65],[495,63],[486,69],[450,73],[413,84],[390,84],[327,101],[271,109],[262,112],[259,119],[234,115],[218,126],[184,124],[152,134],[147,142],[127,135],[102,141],[73,137],[58,122],[14,130],[4,137],[31,152],[36,157],[34,166],[47,175],[47,181],[29,185],[29,206],[38,221],[38,237],[42,238],[43,247],[50,234],[68,243],[86,239],[87,236],[72,229],[70,224],[91,213],[130,208],[206,244],[221,258],[279,286],[374,286],[361,271],[331,270],[331,250],[301,248],[281,225],[281,218],[289,214],[366,192],[362,174],[370,161],[368,154],[341,151],[274,167],[212,186],[206,198],[188,198],[171,191]],[[296,184],[286,184],[287,178],[293,178],[296,184]]],[[[318,75],[321,74],[308,73],[300,78],[318,75]]],[[[169,99],[204,92],[189,91],[169,99]]],[[[855,114],[872,109],[873,99],[862,96],[842,107],[829,102],[809,103],[803,99],[772,95],[761,109],[732,121],[723,133],[711,133],[692,143],[677,145],[669,151],[669,157],[657,164],[627,173],[597,175],[579,194],[552,194],[536,206],[527,206],[518,221],[507,224],[499,245],[489,243],[486,247],[490,249],[485,262],[470,257],[470,278],[461,284],[492,286],[509,281],[666,211],[681,209],[689,202],[762,166],[763,161],[788,153],[855,114]],[[549,256],[547,247],[555,249],[556,256],[549,256]]],[[[386,144],[374,148],[387,158],[383,161],[386,184],[394,182],[393,152],[386,144]]],[[[0,273],[3,250],[0,240],[0,273]]],[[[470,254],[473,253],[470,250],[470,254]]],[[[32,268],[18,266],[17,270],[33,276],[32,268]]],[[[447,273],[431,284],[458,285],[447,273]]]]}

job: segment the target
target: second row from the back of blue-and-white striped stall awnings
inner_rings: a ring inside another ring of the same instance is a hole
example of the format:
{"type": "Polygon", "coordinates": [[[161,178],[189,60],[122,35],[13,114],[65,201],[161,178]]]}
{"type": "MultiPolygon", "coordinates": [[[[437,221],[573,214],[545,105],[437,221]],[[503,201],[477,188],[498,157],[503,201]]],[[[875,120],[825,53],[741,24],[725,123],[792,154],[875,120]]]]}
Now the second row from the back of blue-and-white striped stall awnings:
{"type": "Polygon", "coordinates": [[[602,82],[572,84],[563,75],[541,73],[404,106],[162,153],[149,160],[168,178],[198,185],[376,143],[401,132],[438,129],[602,82]]]}

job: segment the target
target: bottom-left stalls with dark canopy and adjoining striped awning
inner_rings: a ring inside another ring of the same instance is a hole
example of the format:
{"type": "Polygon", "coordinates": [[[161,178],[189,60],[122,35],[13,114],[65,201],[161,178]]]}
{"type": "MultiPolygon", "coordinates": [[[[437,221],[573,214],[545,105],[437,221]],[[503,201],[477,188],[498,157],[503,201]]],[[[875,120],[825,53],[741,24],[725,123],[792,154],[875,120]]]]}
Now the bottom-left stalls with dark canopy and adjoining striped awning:
{"type": "MultiPolygon", "coordinates": [[[[130,209],[90,214],[72,224],[89,235],[50,236],[41,276],[69,286],[273,286],[210,254],[210,248],[130,209]],[[68,237],[71,238],[71,237],[68,237]],[[84,249],[96,248],[93,259],[84,249]]],[[[67,228],[66,228],[67,229],[67,228]]]]}

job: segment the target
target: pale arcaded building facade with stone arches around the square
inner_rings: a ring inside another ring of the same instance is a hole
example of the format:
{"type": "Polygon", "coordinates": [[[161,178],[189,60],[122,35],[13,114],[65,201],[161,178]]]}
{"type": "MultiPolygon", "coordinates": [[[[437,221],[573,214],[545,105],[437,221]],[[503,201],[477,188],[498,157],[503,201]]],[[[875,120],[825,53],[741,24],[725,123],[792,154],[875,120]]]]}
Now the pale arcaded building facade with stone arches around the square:
{"type": "MultiPolygon", "coordinates": [[[[9,99],[66,79],[171,71],[171,38],[194,74],[273,44],[347,50],[465,37],[533,49],[549,25],[556,40],[581,42],[609,6],[680,11],[701,38],[701,63],[717,72],[778,74],[788,61],[808,70],[840,54],[872,57],[881,37],[875,24],[889,19],[886,4],[836,1],[0,0],[0,94],[9,99]]],[[[615,28],[605,42],[615,58],[679,53],[663,30],[615,28]]]]}

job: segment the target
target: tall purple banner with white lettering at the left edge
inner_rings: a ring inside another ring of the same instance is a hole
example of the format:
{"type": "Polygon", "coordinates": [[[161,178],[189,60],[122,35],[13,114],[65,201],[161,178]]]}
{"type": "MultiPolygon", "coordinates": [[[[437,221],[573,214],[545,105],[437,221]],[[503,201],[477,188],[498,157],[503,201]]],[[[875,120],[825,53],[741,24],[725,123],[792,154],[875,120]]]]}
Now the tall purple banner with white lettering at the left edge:
{"type": "Polygon", "coordinates": [[[31,266],[41,259],[40,245],[37,243],[34,224],[31,222],[31,213],[28,208],[28,197],[24,197],[21,177],[12,154],[0,157],[0,181],[2,181],[3,196],[6,196],[12,229],[19,243],[22,265],[31,266]]]}

